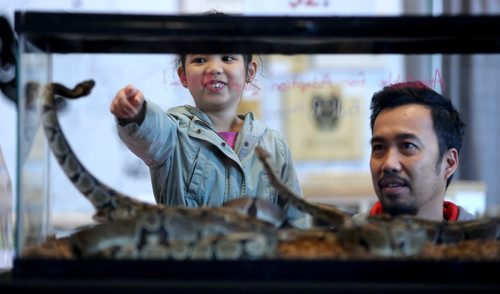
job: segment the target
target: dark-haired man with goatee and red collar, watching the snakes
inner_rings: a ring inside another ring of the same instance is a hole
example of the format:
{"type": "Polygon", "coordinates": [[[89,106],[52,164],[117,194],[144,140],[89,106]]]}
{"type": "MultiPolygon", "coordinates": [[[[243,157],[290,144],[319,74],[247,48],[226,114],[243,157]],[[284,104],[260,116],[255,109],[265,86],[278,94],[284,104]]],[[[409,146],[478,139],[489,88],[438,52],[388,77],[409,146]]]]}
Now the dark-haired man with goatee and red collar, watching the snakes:
{"type": "MultiPolygon", "coordinates": [[[[433,221],[471,220],[445,201],[458,168],[464,124],[451,102],[420,82],[373,95],[370,170],[378,202],[368,215],[411,214],[433,221]]],[[[357,214],[356,222],[367,216],[357,214]]]]}

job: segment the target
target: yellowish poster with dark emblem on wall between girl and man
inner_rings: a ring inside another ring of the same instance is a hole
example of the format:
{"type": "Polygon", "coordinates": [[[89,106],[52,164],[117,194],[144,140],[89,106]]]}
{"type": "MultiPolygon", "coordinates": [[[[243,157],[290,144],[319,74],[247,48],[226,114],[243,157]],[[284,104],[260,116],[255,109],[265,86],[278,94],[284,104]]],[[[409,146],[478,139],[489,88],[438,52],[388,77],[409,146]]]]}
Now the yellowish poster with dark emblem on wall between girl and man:
{"type": "Polygon", "coordinates": [[[325,84],[283,92],[286,136],[295,160],[358,160],[363,157],[361,97],[325,84]]]}

